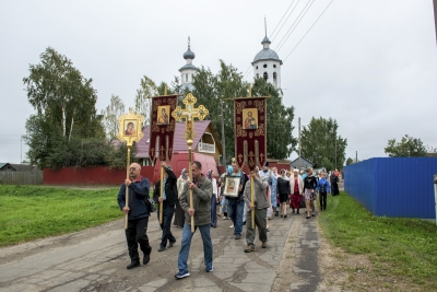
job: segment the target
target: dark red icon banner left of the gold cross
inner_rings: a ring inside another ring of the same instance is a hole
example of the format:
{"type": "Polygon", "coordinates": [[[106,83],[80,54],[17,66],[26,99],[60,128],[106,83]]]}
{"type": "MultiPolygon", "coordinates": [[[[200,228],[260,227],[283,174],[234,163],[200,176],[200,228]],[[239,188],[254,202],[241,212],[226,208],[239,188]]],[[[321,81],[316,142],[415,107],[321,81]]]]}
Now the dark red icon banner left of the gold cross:
{"type": "Polygon", "coordinates": [[[155,160],[156,151],[158,151],[160,161],[172,160],[176,128],[176,121],[172,116],[172,112],[175,110],[176,105],[177,95],[155,96],[152,98],[149,143],[149,156],[151,161],[155,160]]]}

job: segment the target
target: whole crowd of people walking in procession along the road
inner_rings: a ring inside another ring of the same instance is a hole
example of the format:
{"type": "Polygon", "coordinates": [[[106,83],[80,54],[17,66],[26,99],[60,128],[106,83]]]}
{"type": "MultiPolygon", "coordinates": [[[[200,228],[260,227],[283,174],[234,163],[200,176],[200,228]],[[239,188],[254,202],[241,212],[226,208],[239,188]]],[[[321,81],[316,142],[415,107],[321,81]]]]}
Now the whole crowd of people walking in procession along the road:
{"type": "MultiPolygon", "coordinates": [[[[316,215],[316,201],[319,198],[320,211],[327,209],[327,196],[339,195],[338,170],[327,173],[324,170],[314,174],[312,168],[307,170],[281,170],[269,167],[267,164],[262,170],[255,167],[246,174],[238,168],[233,160],[226,171],[215,178],[213,170],[208,170],[204,176],[202,165],[198,161],[191,164],[192,179],[189,179],[189,171],[184,168],[177,177],[170,165],[161,162],[164,171],[163,184],[156,182],[153,199],[162,205],[162,229],[161,244],[157,252],[164,252],[176,243],[172,233],[172,220],[175,227],[182,229],[180,252],[178,256],[178,272],[176,279],[190,276],[188,269],[188,257],[193,234],[199,230],[203,242],[205,271],[213,271],[213,248],[211,241],[211,227],[217,226],[217,218],[231,220],[229,226],[235,240],[240,240],[244,225],[246,225],[245,253],[256,250],[256,233],[261,248],[267,248],[269,220],[274,217],[287,218],[288,206],[292,214],[300,214],[305,208],[306,219],[316,215]],[[252,178],[252,179],[251,179],[252,178]],[[329,178],[329,179],[328,179],[329,178]],[[231,183],[239,182],[238,185],[231,183]],[[231,187],[228,186],[231,185],[231,187]],[[163,186],[163,191],[161,191],[163,186]],[[228,187],[229,189],[225,190],[228,187]],[[253,188],[253,197],[251,196],[253,188]],[[231,191],[229,191],[231,190],[231,191]],[[192,206],[190,205],[190,192],[192,194],[192,206]],[[191,206],[191,207],[190,207],[191,206]],[[253,211],[255,224],[251,222],[253,211]],[[191,218],[194,222],[194,232],[191,232],[191,218]]],[[[127,269],[140,266],[138,247],[143,253],[143,265],[150,261],[152,247],[146,234],[151,208],[147,206],[150,182],[141,176],[141,166],[132,163],[129,168],[129,179],[125,180],[118,194],[118,205],[127,214],[128,224],[126,240],[128,244],[131,262],[127,269]],[[129,200],[126,205],[126,189],[128,188],[129,200]]],[[[157,208],[157,218],[160,211],[157,208]]]]}

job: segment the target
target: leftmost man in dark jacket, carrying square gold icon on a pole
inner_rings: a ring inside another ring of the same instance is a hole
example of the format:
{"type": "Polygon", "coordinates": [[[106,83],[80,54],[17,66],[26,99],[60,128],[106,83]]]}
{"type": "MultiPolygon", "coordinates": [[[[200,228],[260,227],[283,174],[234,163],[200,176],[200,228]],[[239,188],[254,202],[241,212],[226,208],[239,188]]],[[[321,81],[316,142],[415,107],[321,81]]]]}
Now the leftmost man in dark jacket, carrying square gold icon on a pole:
{"type": "Polygon", "coordinates": [[[128,229],[125,231],[126,241],[131,262],[126,267],[133,269],[140,266],[138,245],[144,253],[143,265],[150,261],[152,247],[149,244],[146,234],[149,223],[149,210],[145,198],[149,197],[149,179],[141,176],[141,166],[132,163],[129,167],[129,179],[125,179],[118,192],[117,201],[125,214],[128,214],[128,229]],[[129,190],[129,206],[126,206],[126,188],[129,190]]]}

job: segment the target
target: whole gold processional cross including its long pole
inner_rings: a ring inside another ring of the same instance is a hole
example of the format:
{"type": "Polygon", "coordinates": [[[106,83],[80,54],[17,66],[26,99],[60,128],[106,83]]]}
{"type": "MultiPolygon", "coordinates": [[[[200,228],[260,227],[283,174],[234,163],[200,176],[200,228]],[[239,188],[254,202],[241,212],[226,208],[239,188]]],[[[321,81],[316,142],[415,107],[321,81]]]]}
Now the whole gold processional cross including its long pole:
{"type": "MultiPolygon", "coordinates": [[[[204,119],[210,113],[203,105],[200,105],[198,108],[194,107],[194,104],[198,100],[191,94],[187,94],[182,100],[185,104],[185,109],[180,106],[177,106],[175,110],[173,110],[172,116],[176,119],[176,121],[180,121],[180,119],[185,119],[186,121],[186,131],[184,133],[184,138],[187,140],[188,145],[188,170],[189,170],[189,182],[192,182],[192,155],[191,155],[191,147],[192,140],[196,138],[196,131],[193,129],[194,118],[204,119]]],[[[190,189],[190,209],[192,209],[192,190],[190,189]]],[[[194,232],[194,217],[191,217],[191,232],[194,232]]]]}

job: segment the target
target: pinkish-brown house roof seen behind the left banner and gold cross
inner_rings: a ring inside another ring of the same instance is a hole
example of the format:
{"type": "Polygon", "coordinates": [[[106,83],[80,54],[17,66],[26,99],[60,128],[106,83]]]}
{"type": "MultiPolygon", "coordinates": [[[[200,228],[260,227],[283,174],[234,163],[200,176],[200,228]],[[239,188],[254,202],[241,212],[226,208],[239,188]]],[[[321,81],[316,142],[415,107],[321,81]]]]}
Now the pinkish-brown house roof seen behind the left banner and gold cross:
{"type": "MultiPolygon", "coordinates": [[[[194,121],[194,131],[196,138],[192,141],[192,150],[194,150],[202,138],[203,133],[206,131],[208,126],[211,120],[196,120],[194,121]]],[[[188,152],[187,140],[184,138],[184,132],[186,130],[186,126],[184,122],[176,122],[175,129],[175,140],[173,144],[174,152],[188,152]]],[[[150,125],[146,125],[143,128],[144,137],[137,143],[137,157],[138,159],[146,159],[149,157],[149,138],[150,138],[150,125]]],[[[218,142],[218,141],[216,141],[218,142]]]]}

